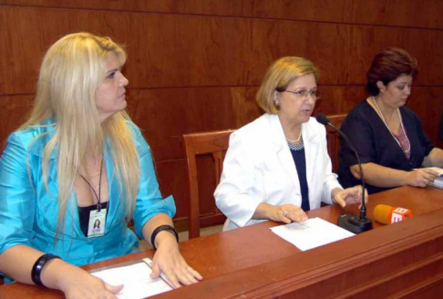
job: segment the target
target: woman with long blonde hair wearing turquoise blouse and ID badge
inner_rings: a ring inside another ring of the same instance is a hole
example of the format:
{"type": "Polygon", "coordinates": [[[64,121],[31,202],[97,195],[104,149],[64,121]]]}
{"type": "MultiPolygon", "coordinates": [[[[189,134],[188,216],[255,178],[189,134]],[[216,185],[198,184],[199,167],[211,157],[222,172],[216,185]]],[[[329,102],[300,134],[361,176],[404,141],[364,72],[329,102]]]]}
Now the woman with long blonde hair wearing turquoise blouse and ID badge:
{"type": "Polygon", "coordinates": [[[78,33],[51,46],[36,102],[0,160],[0,272],[69,297],[114,297],[76,265],[132,253],[135,231],[157,248],[153,277],[176,287],[201,275],[180,255],[149,145],[125,112],[126,53],[112,40],[78,33]],[[101,225],[94,228],[94,223],[101,225]],[[60,275],[63,273],[63,275],[60,275]]]}

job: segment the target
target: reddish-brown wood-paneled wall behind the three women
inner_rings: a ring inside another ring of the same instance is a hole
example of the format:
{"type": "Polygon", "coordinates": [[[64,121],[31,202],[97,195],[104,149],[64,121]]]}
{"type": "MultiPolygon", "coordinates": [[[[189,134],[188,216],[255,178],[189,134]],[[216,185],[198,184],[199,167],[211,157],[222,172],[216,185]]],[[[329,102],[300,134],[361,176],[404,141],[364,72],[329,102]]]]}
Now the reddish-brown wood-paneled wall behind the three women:
{"type": "MultiPolygon", "coordinates": [[[[438,0],[0,0],[0,140],[32,105],[38,67],[60,36],[88,31],[126,45],[129,111],[144,130],[163,194],[188,211],[181,134],[236,129],[261,115],[255,92],[269,64],[308,57],[321,69],[315,112],[340,114],[365,98],[374,55],[417,57],[408,106],[437,140],[443,111],[443,2],[438,0]]],[[[201,160],[202,173],[211,163],[201,160]]],[[[204,176],[211,178],[211,175],[204,176]]],[[[214,182],[203,181],[211,212],[214,182]]]]}

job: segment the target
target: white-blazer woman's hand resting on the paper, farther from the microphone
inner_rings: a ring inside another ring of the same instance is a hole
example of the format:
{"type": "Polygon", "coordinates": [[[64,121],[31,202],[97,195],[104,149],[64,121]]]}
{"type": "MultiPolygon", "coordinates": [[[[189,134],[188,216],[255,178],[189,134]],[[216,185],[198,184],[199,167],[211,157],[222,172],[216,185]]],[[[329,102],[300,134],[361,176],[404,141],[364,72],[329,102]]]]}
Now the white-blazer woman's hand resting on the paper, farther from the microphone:
{"type": "Polygon", "coordinates": [[[272,205],[262,202],[252,215],[252,219],[269,219],[274,222],[305,222],[307,220],[306,213],[302,208],[291,203],[282,205],[272,205]]]}

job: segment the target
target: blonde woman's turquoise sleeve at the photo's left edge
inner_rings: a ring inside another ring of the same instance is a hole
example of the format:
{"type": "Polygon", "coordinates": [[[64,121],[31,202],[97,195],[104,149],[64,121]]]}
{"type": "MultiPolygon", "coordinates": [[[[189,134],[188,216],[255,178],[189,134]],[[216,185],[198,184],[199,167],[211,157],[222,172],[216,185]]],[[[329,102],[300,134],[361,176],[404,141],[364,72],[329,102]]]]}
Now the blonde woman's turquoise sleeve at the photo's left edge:
{"type": "Polygon", "coordinates": [[[0,254],[15,245],[32,246],[36,203],[27,158],[12,134],[0,159],[0,254]]]}

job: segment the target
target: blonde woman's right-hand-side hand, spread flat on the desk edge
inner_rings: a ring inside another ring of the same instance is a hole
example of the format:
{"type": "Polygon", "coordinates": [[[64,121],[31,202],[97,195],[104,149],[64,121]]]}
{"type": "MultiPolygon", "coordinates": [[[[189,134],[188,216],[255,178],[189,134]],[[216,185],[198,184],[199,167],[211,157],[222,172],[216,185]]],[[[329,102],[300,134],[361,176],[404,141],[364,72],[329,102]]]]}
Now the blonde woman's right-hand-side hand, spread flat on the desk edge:
{"type": "Polygon", "coordinates": [[[175,288],[179,288],[180,283],[196,284],[203,279],[201,274],[192,269],[181,256],[179,245],[173,234],[160,232],[157,238],[159,238],[159,245],[152,259],[151,278],[157,278],[160,273],[164,273],[175,288]]]}

